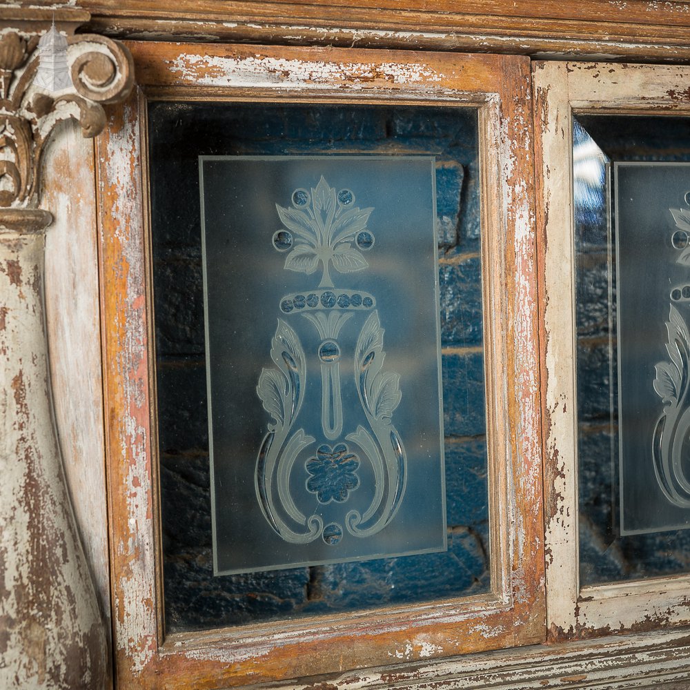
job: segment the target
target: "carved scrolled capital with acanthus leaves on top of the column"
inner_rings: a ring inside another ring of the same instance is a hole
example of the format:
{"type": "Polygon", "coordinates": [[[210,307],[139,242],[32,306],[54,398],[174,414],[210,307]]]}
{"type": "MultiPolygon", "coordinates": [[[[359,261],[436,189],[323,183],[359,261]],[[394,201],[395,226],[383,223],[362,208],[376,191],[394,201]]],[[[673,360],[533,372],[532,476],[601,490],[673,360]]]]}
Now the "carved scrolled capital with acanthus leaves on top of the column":
{"type": "Polygon", "coordinates": [[[132,89],[129,51],[103,36],[75,35],[83,12],[76,22],[69,21],[67,12],[56,12],[55,26],[68,34],[64,39],[72,85],[56,91],[36,79],[41,62],[39,39],[51,26],[41,15],[48,12],[27,10],[37,15],[35,22],[17,20],[13,22],[16,29],[2,28],[0,14],[0,208],[37,206],[41,157],[59,122],[76,119],[85,137],[95,137],[106,124],[103,103],[121,101],[132,89]]]}

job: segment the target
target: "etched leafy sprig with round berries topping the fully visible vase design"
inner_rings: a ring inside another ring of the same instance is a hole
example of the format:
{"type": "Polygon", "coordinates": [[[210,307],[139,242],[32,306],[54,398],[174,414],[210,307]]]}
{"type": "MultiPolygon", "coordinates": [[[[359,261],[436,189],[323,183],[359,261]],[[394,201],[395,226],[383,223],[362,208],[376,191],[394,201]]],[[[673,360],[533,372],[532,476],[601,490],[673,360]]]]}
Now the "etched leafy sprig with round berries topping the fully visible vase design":
{"type": "Polygon", "coordinates": [[[319,287],[333,287],[328,268],[338,273],[353,273],[368,266],[362,251],[374,244],[374,235],[366,229],[373,208],[354,206],[355,195],[348,189],[338,192],[322,176],[315,189],[297,189],[292,208],[276,204],[278,215],[289,232],[273,235],[273,246],[289,250],[285,268],[314,273],[319,264],[323,276],[319,287]]]}

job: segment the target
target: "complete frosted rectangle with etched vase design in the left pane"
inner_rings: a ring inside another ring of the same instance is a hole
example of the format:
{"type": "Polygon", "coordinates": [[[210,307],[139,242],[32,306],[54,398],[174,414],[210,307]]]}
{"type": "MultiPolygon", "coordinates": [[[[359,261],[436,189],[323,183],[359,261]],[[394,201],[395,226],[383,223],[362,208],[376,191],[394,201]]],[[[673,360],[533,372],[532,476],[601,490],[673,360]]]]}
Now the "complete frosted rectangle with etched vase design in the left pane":
{"type": "Polygon", "coordinates": [[[433,157],[199,157],[216,575],[446,549],[433,157]]]}

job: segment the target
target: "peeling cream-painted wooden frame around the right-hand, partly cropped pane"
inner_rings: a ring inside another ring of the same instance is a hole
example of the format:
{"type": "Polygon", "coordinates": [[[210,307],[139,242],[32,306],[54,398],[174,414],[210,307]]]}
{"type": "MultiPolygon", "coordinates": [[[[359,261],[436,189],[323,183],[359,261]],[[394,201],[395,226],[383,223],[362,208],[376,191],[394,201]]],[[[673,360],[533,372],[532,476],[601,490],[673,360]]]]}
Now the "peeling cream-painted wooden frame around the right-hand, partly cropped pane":
{"type": "Polygon", "coordinates": [[[580,587],[572,190],[573,112],[690,115],[690,69],[534,63],[545,353],[546,592],[554,640],[687,624],[689,575],[580,587]],[[564,289],[569,286],[569,289],[564,289]]]}

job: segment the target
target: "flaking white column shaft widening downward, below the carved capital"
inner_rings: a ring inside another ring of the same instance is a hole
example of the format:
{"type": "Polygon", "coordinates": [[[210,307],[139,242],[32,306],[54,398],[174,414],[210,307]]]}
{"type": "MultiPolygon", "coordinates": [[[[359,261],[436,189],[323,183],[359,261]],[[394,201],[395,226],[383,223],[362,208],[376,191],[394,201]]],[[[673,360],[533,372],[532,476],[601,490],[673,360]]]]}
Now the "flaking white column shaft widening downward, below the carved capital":
{"type": "Polygon", "coordinates": [[[46,211],[0,210],[0,686],[103,688],[106,634],[52,423],[46,211]]]}

